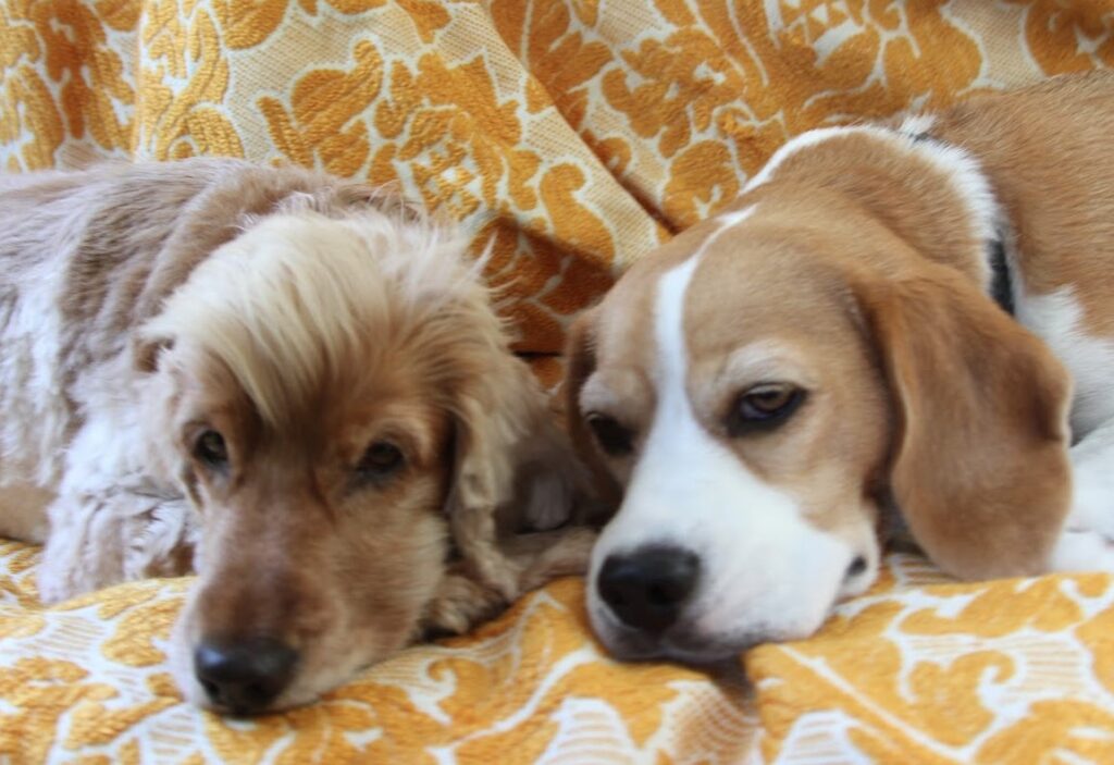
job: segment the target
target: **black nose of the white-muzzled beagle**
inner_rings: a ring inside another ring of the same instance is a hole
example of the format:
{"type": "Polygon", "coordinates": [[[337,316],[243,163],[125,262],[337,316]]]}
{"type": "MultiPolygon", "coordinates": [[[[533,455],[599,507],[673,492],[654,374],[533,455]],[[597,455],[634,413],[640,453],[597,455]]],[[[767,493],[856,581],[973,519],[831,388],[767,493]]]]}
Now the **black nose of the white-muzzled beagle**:
{"type": "Polygon", "coordinates": [[[645,547],[604,561],[596,589],[628,627],[661,632],[696,588],[700,559],[680,547],[645,547]]]}

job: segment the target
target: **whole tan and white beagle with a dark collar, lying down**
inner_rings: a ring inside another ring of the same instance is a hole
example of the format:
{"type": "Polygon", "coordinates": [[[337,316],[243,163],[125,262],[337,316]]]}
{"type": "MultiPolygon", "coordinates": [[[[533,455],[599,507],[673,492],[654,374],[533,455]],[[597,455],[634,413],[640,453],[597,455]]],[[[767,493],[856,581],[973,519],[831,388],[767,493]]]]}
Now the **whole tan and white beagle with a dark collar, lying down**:
{"type": "Polygon", "coordinates": [[[622,658],[807,637],[890,508],[964,579],[1114,570],[1114,72],[805,133],[570,334],[622,658]]]}

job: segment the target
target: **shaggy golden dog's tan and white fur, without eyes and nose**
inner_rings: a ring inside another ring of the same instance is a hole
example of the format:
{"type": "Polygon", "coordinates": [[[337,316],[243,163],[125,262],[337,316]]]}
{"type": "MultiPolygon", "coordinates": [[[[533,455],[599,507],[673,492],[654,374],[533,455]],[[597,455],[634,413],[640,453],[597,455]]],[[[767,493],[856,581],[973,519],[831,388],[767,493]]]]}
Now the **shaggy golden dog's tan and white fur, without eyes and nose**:
{"type": "Polygon", "coordinates": [[[195,568],[179,684],[209,703],[194,646],[266,636],[300,655],[277,708],[583,569],[590,532],[526,533],[579,469],[463,248],[294,168],[0,182],[0,480],[57,493],[43,596],[195,568]],[[403,464],[369,480],[377,442],[403,464]]]}

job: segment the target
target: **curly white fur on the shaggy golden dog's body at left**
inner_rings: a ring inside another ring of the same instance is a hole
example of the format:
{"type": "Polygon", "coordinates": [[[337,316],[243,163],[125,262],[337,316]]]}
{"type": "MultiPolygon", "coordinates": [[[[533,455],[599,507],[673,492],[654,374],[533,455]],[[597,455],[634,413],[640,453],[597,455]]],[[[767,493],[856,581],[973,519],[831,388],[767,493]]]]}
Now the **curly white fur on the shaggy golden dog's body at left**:
{"type": "MultiPolygon", "coordinates": [[[[75,203],[65,222],[79,228],[86,213],[75,203]]],[[[145,389],[126,343],[120,340],[120,355],[77,371],[72,381],[59,366],[70,253],[63,236],[56,243],[21,275],[18,294],[0,300],[0,487],[30,482],[42,489],[37,499],[49,502],[33,508],[49,518],[38,570],[46,601],[173,573],[169,551],[196,541],[180,493],[166,489],[173,482],[152,478],[136,406],[145,389]],[[98,545],[104,539],[119,543],[109,550],[98,545]]]]}

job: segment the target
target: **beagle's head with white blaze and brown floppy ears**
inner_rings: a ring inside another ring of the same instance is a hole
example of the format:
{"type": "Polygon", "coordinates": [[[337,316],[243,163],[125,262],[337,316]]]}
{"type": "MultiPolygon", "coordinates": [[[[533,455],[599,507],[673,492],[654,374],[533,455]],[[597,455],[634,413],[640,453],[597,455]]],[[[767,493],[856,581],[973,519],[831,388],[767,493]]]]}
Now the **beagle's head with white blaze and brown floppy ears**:
{"type": "Polygon", "coordinates": [[[891,498],[956,575],[1047,557],[1064,372],[977,285],[822,197],[750,195],[574,327],[570,432],[622,497],[588,605],[622,658],[810,635],[876,579],[891,498]]]}

